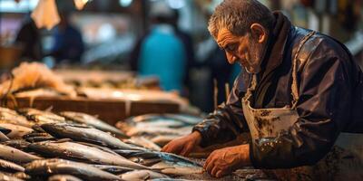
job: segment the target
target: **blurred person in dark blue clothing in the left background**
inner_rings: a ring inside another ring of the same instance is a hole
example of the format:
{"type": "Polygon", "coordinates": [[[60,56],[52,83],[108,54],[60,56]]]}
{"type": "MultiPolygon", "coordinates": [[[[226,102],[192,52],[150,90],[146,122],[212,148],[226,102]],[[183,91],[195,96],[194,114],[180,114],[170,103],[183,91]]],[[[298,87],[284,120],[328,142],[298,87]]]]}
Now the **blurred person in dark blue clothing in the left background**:
{"type": "Polygon", "coordinates": [[[54,46],[49,53],[57,63],[79,63],[84,52],[81,32],[70,22],[69,12],[60,12],[61,22],[54,28],[54,46]]]}

